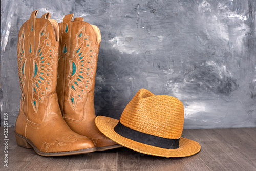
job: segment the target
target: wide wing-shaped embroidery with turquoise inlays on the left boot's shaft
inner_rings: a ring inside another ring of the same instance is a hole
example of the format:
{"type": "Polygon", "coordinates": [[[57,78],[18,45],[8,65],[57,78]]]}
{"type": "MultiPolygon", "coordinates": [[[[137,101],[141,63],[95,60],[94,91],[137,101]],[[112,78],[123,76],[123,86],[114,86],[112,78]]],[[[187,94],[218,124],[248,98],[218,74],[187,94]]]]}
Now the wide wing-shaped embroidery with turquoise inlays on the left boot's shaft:
{"type": "Polygon", "coordinates": [[[54,52],[55,47],[51,46],[51,39],[49,39],[49,33],[46,33],[45,23],[39,32],[39,46],[36,49],[36,57],[33,59],[33,74],[32,80],[32,106],[37,113],[39,102],[44,102],[44,98],[47,97],[47,92],[52,88],[52,68],[56,56],[54,52]]]}

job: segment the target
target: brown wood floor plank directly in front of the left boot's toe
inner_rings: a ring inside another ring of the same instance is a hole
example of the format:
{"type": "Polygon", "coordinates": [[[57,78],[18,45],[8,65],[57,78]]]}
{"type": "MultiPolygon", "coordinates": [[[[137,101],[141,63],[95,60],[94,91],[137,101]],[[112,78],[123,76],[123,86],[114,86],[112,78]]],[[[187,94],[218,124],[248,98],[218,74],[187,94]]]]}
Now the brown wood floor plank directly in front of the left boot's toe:
{"type": "Polygon", "coordinates": [[[37,155],[24,170],[116,170],[116,149],[74,156],[37,155]],[[38,164],[40,163],[40,164],[38,164]]]}

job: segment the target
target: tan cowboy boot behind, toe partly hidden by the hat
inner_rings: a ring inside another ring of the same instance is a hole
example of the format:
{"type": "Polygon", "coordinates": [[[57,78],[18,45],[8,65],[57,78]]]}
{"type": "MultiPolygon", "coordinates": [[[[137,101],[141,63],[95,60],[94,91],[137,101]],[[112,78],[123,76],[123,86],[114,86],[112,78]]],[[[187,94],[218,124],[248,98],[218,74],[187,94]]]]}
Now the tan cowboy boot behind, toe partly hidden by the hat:
{"type": "Polygon", "coordinates": [[[122,147],[104,136],[94,119],[94,84],[101,35],[97,26],[73,14],[59,23],[57,94],[62,115],[73,131],[89,137],[97,151],[122,147]]]}

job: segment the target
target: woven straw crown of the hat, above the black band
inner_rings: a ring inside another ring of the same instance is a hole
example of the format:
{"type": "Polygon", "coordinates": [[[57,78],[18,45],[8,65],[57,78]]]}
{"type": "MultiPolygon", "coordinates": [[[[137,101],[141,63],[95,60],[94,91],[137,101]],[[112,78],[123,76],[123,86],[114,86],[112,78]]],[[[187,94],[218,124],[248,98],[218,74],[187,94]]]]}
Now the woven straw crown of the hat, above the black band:
{"type": "Polygon", "coordinates": [[[140,89],[125,107],[120,122],[142,133],[178,139],[183,130],[183,104],[175,97],[140,89]]]}

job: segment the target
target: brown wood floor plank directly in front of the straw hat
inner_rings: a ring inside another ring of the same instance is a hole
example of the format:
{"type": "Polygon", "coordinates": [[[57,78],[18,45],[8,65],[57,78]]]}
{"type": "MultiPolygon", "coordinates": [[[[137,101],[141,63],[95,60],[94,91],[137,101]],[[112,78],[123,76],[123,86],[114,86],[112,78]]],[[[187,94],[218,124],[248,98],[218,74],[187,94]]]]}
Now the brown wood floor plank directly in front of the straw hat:
{"type": "Polygon", "coordinates": [[[199,156],[166,158],[145,155],[121,148],[118,151],[117,170],[210,170],[199,156]]]}

